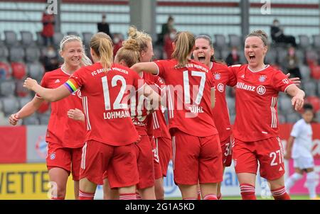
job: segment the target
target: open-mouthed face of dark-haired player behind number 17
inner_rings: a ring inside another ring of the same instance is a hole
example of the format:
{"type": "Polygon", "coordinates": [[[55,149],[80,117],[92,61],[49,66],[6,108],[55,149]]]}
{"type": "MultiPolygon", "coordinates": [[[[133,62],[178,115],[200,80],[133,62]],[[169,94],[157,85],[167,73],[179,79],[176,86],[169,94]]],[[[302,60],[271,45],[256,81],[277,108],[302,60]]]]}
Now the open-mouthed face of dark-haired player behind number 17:
{"type": "Polygon", "coordinates": [[[194,60],[210,66],[210,58],[214,54],[214,50],[210,47],[209,41],[203,38],[198,38],[193,50],[194,60]]]}

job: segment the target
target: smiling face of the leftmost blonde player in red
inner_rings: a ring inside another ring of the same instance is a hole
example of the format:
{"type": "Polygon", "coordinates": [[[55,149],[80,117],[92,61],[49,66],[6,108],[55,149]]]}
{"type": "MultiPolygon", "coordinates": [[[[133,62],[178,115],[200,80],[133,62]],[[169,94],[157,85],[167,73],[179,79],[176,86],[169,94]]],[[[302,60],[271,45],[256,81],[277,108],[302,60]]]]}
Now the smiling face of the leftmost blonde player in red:
{"type": "Polygon", "coordinates": [[[65,43],[63,50],[60,52],[65,64],[68,64],[71,67],[80,66],[82,58],[82,43],[78,40],[73,40],[65,43]]]}

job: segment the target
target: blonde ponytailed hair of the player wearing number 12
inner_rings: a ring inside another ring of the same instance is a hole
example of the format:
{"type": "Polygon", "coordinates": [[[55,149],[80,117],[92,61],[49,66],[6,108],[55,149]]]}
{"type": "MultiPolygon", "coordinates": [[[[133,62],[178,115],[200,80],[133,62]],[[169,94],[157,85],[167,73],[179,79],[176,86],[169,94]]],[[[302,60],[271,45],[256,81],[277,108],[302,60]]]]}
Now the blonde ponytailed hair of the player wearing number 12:
{"type": "Polygon", "coordinates": [[[90,47],[100,58],[102,67],[108,69],[113,62],[113,43],[106,33],[96,33],[90,40],[90,47]]]}

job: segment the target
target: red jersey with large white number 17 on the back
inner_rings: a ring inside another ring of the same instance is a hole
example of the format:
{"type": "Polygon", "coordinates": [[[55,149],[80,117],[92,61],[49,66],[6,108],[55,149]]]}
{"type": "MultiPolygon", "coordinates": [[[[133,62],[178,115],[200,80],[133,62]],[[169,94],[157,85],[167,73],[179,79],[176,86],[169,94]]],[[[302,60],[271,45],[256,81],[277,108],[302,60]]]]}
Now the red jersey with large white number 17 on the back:
{"type": "Polygon", "coordinates": [[[177,60],[154,63],[159,68],[159,77],[166,82],[169,130],[178,128],[199,137],[217,134],[210,101],[214,87],[210,69],[194,60],[182,68],[176,68],[177,60]]]}

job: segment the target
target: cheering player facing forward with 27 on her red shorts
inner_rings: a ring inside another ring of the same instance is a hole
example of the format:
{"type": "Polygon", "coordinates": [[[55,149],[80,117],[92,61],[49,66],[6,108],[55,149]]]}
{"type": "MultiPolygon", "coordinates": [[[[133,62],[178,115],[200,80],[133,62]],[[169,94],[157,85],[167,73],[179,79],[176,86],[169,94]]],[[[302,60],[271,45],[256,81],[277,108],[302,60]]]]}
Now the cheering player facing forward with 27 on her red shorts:
{"type": "Polygon", "coordinates": [[[277,96],[279,91],[292,96],[292,106],[297,111],[303,106],[304,91],[281,71],[265,64],[267,50],[267,34],[256,30],[245,39],[248,64],[230,67],[237,79],[233,160],[242,199],[256,199],[258,162],[260,175],[270,183],[274,199],[290,199],[284,188],[284,153],[278,132],[277,96]]]}

